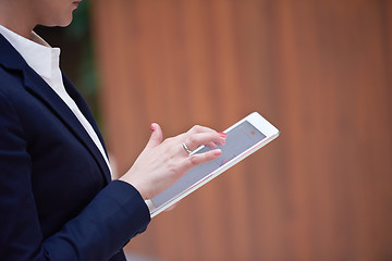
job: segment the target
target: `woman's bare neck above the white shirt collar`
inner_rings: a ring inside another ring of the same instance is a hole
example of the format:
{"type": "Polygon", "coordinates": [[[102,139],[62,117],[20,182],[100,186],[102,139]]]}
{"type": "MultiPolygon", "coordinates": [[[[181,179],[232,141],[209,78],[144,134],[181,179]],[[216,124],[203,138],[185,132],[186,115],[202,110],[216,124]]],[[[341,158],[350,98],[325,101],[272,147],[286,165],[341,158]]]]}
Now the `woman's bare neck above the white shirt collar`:
{"type": "Polygon", "coordinates": [[[36,24],[28,12],[28,4],[23,0],[0,0],[0,24],[8,29],[27,38],[36,40],[33,33],[36,24]]]}

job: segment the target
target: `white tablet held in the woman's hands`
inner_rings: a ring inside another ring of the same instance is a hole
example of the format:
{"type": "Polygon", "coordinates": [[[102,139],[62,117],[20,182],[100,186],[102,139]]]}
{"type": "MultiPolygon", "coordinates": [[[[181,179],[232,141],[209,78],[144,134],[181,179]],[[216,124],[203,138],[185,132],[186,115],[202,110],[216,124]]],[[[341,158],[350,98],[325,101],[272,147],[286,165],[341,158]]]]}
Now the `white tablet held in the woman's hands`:
{"type": "MultiPolygon", "coordinates": [[[[228,137],[225,145],[219,146],[222,150],[221,157],[195,166],[161,194],[146,200],[151,217],[176,203],[279,136],[279,130],[257,112],[244,117],[224,130],[224,133],[228,137]]],[[[211,149],[201,146],[192,153],[200,153],[208,150],[211,149]]]]}

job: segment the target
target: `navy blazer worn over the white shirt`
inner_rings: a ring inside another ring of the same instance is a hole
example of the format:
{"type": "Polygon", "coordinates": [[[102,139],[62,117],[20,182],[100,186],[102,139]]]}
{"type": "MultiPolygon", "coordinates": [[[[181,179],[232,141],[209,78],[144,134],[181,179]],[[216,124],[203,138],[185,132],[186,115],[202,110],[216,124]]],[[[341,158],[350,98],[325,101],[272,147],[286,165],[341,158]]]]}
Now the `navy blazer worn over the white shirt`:
{"type": "Polygon", "coordinates": [[[122,247],[149,221],[139,192],[111,182],[73,112],[0,34],[0,259],[125,260],[122,247]]]}

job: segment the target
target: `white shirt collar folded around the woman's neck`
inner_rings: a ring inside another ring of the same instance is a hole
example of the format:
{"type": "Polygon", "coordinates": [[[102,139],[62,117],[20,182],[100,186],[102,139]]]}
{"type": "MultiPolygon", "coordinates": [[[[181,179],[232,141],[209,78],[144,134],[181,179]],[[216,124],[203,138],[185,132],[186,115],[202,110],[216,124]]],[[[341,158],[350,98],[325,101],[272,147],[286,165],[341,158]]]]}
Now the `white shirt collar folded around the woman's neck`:
{"type": "MultiPolygon", "coordinates": [[[[33,32],[34,33],[34,32],[33,32]]],[[[59,67],[60,48],[51,48],[38,35],[46,46],[32,41],[0,25],[0,34],[16,49],[26,63],[44,78],[50,79],[53,69],[59,67]]],[[[35,33],[34,33],[35,34],[35,33]]]]}

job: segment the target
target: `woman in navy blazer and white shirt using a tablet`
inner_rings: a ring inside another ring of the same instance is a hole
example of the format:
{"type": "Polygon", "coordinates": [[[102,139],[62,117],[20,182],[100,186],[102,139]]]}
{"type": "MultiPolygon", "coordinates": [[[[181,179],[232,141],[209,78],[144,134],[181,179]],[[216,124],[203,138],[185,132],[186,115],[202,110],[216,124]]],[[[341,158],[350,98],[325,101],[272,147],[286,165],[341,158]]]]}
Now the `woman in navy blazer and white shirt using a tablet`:
{"type": "Polygon", "coordinates": [[[158,124],[133,166],[110,179],[105,145],[86,103],[59,69],[58,48],[33,28],[66,26],[74,0],[0,0],[0,259],[125,260],[144,232],[144,200],[219,149],[225,135],[195,126],[162,141],[158,124]]]}

